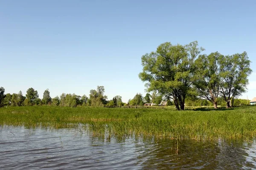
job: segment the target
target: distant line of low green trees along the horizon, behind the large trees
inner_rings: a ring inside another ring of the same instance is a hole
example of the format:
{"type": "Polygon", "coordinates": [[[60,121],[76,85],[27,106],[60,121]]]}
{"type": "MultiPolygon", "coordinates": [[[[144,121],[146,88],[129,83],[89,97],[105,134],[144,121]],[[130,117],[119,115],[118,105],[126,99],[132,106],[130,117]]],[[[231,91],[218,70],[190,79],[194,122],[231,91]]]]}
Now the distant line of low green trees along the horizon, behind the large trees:
{"type": "MultiPolygon", "coordinates": [[[[144,97],[141,93],[137,93],[134,98],[129,99],[128,103],[122,102],[122,96],[116,95],[112,100],[108,101],[106,95],[104,95],[105,89],[104,86],[97,86],[97,89],[90,90],[89,98],[86,95],[76,95],[76,94],[65,94],[62,93],[55,98],[51,98],[49,89],[46,89],[43,94],[43,98],[38,98],[38,92],[29,88],[26,91],[26,95],[23,96],[20,91],[18,94],[7,93],[4,94],[5,89],[0,87],[0,107],[17,107],[17,106],[60,106],[60,107],[77,107],[77,106],[108,106],[108,107],[121,107],[124,105],[129,106],[143,106],[145,103],[156,105],[160,104],[161,101],[167,101],[167,106],[175,105],[173,100],[170,98],[164,98],[157,91],[153,91],[151,94],[147,93],[144,97]]],[[[217,102],[219,106],[224,107],[226,101],[218,97],[217,102]]],[[[248,101],[245,99],[234,99],[233,106],[243,106],[247,105],[248,101]]],[[[201,98],[192,98],[187,96],[186,98],[186,107],[191,106],[213,106],[212,102],[201,99],[201,98]]]]}

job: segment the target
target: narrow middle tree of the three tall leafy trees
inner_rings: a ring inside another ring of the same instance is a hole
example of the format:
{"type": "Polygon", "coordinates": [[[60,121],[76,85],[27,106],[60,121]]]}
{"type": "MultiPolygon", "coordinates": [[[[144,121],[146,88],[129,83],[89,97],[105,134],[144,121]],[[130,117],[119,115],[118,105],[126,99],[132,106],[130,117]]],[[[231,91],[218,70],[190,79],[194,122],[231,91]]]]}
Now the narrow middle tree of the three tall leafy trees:
{"type": "Polygon", "coordinates": [[[192,78],[193,85],[201,98],[212,102],[214,108],[218,106],[218,95],[221,87],[221,69],[219,61],[223,58],[218,52],[210,55],[200,55],[195,61],[195,74],[192,78]]]}

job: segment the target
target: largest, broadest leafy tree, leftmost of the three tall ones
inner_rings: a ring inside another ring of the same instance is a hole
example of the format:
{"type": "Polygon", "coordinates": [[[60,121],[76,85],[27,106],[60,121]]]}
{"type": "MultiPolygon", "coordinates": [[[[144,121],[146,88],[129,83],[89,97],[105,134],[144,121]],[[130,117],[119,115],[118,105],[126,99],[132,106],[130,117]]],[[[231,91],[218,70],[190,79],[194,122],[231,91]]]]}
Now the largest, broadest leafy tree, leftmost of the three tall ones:
{"type": "Polygon", "coordinates": [[[172,98],[176,108],[183,110],[191,90],[194,61],[203,50],[197,41],[185,46],[160,44],[156,52],[142,56],[143,72],[139,77],[147,82],[148,91],[157,90],[165,98],[172,98]]]}

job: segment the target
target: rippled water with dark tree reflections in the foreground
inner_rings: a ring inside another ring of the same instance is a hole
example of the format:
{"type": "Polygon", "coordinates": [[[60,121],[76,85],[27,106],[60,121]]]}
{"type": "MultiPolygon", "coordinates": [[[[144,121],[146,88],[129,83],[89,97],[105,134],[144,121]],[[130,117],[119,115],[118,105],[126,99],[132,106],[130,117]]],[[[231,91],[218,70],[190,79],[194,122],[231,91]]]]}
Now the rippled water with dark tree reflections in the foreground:
{"type": "Polygon", "coordinates": [[[256,169],[256,143],[117,138],[77,129],[4,126],[0,169],[256,169]]]}

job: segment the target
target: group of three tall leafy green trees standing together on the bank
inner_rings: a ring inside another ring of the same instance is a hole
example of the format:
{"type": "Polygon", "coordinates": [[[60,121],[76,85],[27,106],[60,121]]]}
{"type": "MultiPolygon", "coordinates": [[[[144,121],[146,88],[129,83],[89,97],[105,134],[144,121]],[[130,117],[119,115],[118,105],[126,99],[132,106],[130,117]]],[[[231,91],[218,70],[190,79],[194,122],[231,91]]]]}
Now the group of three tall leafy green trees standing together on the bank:
{"type": "Polygon", "coordinates": [[[252,72],[247,53],[201,55],[202,51],[197,41],[184,46],[160,44],[155,52],[142,56],[139,78],[148,92],[172,99],[178,110],[184,109],[187,97],[206,99],[215,108],[221,97],[227,108],[232,107],[233,99],[246,91],[252,72]]]}

